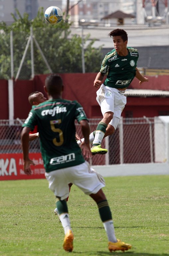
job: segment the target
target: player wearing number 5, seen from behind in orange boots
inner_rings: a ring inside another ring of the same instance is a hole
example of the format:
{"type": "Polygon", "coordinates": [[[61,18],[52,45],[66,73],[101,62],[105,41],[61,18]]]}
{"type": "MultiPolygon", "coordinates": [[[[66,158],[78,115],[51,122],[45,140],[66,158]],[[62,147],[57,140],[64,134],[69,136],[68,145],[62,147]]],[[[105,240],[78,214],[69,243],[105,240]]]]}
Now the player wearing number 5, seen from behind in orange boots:
{"type": "Polygon", "coordinates": [[[30,165],[34,163],[29,159],[29,131],[38,125],[41,153],[46,169],[45,176],[49,182],[49,188],[56,196],[56,206],[65,232],[63,244],[65,251],[73,250],[74,240],[65,201],[69,196],[70,183],[79,187],[86,195],[90,195],[96,202],[108,237],[109,251],[130,249],[131,245],[116,239],[111,211],[102,191],[102,187],[105,186],[104,179],[85,161],[75,139],[75,120],[77,120],[84,135],[81,148],[86,157],[91,157],[90,127],[83,107],[77,101],[62,99],[63,83],[57,74],[47,77],[45,90],[49,100],[33,106],[23,125],[21,141],[24,172],[31,175],[30,165]]]}

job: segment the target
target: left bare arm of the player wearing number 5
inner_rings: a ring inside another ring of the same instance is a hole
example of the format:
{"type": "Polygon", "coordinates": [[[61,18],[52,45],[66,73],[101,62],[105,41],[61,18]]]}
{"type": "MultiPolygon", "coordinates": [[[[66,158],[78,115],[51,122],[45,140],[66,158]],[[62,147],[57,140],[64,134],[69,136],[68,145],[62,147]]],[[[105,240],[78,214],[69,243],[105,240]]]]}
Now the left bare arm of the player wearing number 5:
{"type": "Polygon", "coordinates": [[[34,164],[34,162],[29,159],[29,132],[30,128],[24,127],[21,133],[21,142],[22,142],[22,150],[23,150],[23,158],[24,158],[24,172],[27,175],[31,175],[30,165],[34,164]]]}

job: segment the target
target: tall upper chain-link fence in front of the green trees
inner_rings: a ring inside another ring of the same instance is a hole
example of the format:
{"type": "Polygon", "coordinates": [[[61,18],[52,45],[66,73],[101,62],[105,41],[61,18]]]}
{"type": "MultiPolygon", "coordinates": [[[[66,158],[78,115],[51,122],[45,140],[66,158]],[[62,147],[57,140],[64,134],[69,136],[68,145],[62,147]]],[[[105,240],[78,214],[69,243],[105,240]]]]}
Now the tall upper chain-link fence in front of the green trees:
{"type": "MultiPolygon", "coordinates": [[[[90,37],[90,29],[85,35],[82,28],[71,31],[65,34],[59,27],[33,29],[32,34],[1,31],[0,79],[31,79],[35,74],[47,73],[98,72],[103,57],[112,48],[94,48],[94,35],[90,37]]],[[[97,28],[97,34],[99,31],[97,28]]],[[[137,67],[144,75],[169,74],[169,63],[164,61],[169,59],[168,45],[135,48],[139,51],[137,67]]]]}

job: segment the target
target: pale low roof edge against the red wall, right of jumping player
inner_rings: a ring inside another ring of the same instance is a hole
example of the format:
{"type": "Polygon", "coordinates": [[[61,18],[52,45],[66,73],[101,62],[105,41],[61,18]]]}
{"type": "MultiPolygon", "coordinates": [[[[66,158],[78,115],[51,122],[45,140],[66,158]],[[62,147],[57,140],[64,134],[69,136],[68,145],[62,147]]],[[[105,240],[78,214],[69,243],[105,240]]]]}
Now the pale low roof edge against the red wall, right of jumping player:
{"type": "Polygon", "coordinates": [[[129,89],[124,94],[127,97],[169,97],[169,91],[161,90],[129,89]]]}

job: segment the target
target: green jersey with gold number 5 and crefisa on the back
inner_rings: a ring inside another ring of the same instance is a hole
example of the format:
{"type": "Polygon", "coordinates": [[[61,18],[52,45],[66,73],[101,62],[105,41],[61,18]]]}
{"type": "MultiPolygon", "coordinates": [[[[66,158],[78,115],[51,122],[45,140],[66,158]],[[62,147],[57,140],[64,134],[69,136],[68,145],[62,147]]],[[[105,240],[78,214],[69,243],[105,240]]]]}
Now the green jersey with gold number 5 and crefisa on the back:
{"type": "Polygon", "coordinates": [[[33,130],[38,125],[46,172],[85,162],[75,139],[75,120],[84,119],[87,117],[77,101],[48,100],[32,107],[23,127],[33,130]]]}

